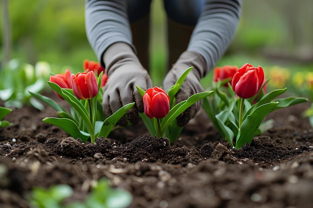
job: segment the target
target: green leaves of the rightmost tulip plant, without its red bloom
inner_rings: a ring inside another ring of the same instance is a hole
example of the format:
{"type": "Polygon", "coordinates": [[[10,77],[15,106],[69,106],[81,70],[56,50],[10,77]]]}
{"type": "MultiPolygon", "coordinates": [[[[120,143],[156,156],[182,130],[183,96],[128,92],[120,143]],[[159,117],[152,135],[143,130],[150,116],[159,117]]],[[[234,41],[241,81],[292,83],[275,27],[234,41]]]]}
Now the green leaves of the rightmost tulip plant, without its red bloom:
{"type": "Polygon", "coordinates": [[[212,90],[216,93],[214,96],[205,98],[202,107],[221,136],[236,149],[250,143],[256,134],[260,134],[271,127],[271,121],[263,123],[268,113],[308,101],[303,97],[276,99],[277,96],[286,91],[286,88],[273,90],[265,95],[259,91],[258,94],[249,99],[236,98],[229,83],[227,91],[222,85],[223,83],[220,81],[212,83],[212,90]],[[257,96],[261,96],[261,98],[253,104],[257,96]],[[242,124],[238,119],[239,108],[241,107],[243,109],[242,124]]]}

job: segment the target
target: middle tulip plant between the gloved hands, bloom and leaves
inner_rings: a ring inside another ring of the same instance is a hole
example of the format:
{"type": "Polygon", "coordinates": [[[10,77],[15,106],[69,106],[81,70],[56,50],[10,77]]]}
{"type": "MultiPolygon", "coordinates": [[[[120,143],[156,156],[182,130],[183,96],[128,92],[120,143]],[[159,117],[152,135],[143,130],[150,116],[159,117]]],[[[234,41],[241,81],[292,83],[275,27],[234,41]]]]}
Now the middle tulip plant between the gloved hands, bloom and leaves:
{"type": "Polygon", "coordinates": [[[170,143],[176,141],[183,128],[177,125],[176,118],[188,107],[213,93],[199,92],[175,105],[175,95],[192,68],[187,68],[167,92],[159,87],[144,91],[136,86],[143,97],[144,113],[141,113],[140,117],[151,135],[166,137],[170,143]]]}

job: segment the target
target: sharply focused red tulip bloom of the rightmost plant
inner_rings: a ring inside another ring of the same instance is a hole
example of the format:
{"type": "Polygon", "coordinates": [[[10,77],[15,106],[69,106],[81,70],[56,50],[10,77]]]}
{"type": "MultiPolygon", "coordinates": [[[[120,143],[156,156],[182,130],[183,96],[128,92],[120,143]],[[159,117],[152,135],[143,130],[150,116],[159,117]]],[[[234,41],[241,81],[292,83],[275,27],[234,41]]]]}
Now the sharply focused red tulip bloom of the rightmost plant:
{"type": "Polygon", "coordinates": [[[253,67],[246,63],[233,75],[231,87],[239,97],[246,99],[256,95],[263,84],[263,80],[262,67],[253,67]]]}

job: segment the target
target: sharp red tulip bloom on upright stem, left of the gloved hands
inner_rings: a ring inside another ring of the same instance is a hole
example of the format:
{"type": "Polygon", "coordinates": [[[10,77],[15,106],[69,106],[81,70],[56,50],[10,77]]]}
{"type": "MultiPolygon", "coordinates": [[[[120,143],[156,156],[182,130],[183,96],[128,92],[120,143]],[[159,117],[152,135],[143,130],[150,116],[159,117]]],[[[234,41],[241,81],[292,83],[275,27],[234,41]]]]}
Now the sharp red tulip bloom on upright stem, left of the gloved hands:
{"type": "Polygon", "coordinates": [[[77,98],[87,100],[98,93],[98,84],[93,71],[70,75],[71,85],[77,98]]]}

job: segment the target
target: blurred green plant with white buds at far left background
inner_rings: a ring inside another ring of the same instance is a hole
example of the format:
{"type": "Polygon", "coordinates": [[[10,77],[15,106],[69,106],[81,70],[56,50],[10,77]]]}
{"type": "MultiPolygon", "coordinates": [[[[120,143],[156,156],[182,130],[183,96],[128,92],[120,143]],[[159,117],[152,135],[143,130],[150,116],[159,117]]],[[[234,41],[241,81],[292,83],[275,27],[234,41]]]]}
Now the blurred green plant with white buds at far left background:
{"type": "Polygon", "coordinates": [[[34,66],[10,60],[0,70],[0,99],[5,107],[22,108],[26,104],[43,110],[43,105],[31,97],[28,91],[40,92],[45,87],[50,66],[44,61],[34,66]]]}

